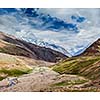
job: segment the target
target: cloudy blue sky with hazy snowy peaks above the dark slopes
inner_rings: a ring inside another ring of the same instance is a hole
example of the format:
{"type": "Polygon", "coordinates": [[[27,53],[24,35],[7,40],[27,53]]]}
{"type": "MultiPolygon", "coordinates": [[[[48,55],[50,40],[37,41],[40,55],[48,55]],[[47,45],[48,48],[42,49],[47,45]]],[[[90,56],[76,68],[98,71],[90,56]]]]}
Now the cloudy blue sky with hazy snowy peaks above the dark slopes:
{"type": "Polygon", "coordinates": [[[95,8],[0,8],[0,31],[36,44],[54,44],[75,56],[100,38],[99,16],[95,8]]]}

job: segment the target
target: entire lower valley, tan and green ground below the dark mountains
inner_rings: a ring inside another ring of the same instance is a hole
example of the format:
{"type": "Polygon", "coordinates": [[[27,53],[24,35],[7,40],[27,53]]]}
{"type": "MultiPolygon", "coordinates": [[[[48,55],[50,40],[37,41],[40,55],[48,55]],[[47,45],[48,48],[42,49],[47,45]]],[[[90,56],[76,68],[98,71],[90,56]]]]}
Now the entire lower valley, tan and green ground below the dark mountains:
{"type": "Polygon", "coordinates": [[[55,64],[0,53],[0,92],[100,92],[99,70],[100,57],[55,64]]]}

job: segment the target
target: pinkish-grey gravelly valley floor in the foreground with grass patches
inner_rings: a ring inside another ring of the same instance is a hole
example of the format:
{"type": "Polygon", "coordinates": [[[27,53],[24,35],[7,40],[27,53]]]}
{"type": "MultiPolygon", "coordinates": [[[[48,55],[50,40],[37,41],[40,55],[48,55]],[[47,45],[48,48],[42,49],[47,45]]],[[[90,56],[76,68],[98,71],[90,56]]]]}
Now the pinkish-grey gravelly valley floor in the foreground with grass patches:
{"type": "MultiPolygon", "coordinates": [[[[6,81],[5,79],[0,83],[6,81]]],[[[4,85],[4,84],[2,84],[4,85]]],[[[70,92],[100,91],[91,81],[77,75],[58,74],[47,67],[34,67],[30,74],[18,77],[18,83],[3,87],[1,92],[70,92]]]]}

